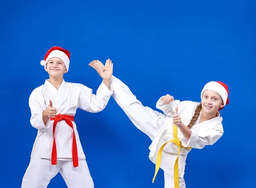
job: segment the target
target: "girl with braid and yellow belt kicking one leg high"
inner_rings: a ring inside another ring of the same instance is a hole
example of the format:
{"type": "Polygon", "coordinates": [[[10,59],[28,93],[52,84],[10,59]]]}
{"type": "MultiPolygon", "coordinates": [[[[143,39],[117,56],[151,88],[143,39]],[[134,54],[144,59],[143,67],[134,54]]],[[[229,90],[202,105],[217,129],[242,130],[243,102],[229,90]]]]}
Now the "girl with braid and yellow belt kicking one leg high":
{"type": "MultiPolygon", "coordinates": [[[[93,61],[90,67],[101,75],[104,65],[93,61]]],[[[202,149],[213,145],[222,135],[219,110],[229,103],[228,87],[211,81],[201,91],[201,103],[174,100],[171,95],[157,101],[157,109],[164,114],[144,107],[131,90],[112,76],[113,98],[133,124],[152,140],[149,159],[164,171],[165,188],[185,188],[186,157],[192,148],[202,149]]]]}

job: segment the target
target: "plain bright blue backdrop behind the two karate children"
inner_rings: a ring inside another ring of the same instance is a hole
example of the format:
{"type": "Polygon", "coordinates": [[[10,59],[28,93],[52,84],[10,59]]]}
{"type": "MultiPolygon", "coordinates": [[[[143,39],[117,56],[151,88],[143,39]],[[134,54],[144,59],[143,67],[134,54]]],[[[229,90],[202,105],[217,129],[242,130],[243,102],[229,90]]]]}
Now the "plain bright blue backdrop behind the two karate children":
{"type": "MultiPolygon", "coordinates": [[[[224,135],[189,153],[188,188],[255,188],[256,2],[253,0],[2,1],[0,5],[0,187],[18,188],[37,130],[30,125],[29,95],[44,84],[47,50],[71,53],[65,81],[96,93],[101,78],[88,66],[111,58],[113,74],[145,105],[162,95],[200,101],[208,81],[229,86],[224,135]]],[[[152,184],[151,140],[111,98],[105,110],[76,114],[95,188],[163,188],[152,184]]],[[[66,187],[61,175],[48,188],[66,187]]]]}

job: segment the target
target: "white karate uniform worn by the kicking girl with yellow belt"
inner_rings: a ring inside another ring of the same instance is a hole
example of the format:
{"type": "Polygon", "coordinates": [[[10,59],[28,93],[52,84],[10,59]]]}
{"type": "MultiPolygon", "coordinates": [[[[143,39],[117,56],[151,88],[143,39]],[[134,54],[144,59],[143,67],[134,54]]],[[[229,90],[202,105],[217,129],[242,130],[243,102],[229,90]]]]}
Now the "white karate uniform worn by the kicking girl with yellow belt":
{"type": "MultiPolygon", "coordinates": [[[[180,102],[178,100],[170,104],[163,104],[163,96],[157,101],[157,109],[163,110],[165,113],[162,114],[149,107],[144,107],[131,90],[118,78],[112,76],[111,85],[113,87],[112,96],[117,104],[124,110],[133,124],[152,140],[149,146],[149,159],[154,164],[156,163],[160,147],[169,140],[174,139],[172,116],[174,115],[175,107],[178,106],[178,114],[181,117],[181,121],[188,125],[192,116],[194,116],[196,107],[200,104],[198,102],[180,102]]],[[[202,149],[205,145],[213,145],[222,136],[223,127],[220,116],[199,124],[200,116],[191,128],[192,134],[189,140],[178,129],[177,137],[184,147],[202,149]]],[[[180,188],[186,188],[183,176],[186,157],[190,150],[180,149],[178,160],[180,188]]],[[[165,188],[174,188],[174,164],[177,153],[178,147],[172,142],[166,144],[163,149],[160,168],[164,171],[165,188]]]]}

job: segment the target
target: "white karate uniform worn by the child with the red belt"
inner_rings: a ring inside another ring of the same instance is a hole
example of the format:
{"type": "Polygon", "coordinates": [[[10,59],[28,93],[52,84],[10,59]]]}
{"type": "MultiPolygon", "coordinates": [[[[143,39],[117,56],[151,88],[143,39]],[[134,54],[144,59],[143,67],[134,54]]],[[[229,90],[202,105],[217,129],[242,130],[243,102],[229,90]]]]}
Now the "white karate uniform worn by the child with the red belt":
{"type": "MultiPolygon", "coordinates": [[[[96,91],[82,84],[68,83],[64,80],[58,90],[46,80],[44,85],[32,91],[29,97],[31,109],[30,122],[38,129],[38,134],[32,148],[31,160],[23,177],[21,188],[47,188],[50,180],[61,173],[68,188],[93,188],[93,179],[85,160],[76,123],[72,121],[76,135],[79,166],[74,168],[72,162],[73,129],[65,121],[59,121],[55,129],[55,142],[57,148],[57,165],[51,164],[53,121],[48,119],[44,125],[42,115],[52,101],[52,106],[57,109],[57,114],[75,116],[76,109],[96,113],[102,111],[112,95],[102,82],[96,91]]],[[[76,119],[75,119],[76,121],[76,119]]]]}

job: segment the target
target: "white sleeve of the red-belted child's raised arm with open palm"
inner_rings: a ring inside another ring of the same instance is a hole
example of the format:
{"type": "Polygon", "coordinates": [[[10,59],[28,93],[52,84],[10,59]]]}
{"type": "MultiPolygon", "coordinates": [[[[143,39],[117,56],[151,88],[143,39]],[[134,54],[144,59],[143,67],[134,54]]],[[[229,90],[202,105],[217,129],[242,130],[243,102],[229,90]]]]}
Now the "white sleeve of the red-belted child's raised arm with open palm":
{"type": "Polygon", "coordinates": [[[113,88],[110,84],[110,89],[102,83],[100,84],[96,95],[93,94],[93,90],[79,84],[81,92],[79,94],[79,108],[87,112],[96,113],[105,109],[108,104],[111,95],[113,94],[113,88]]]}

